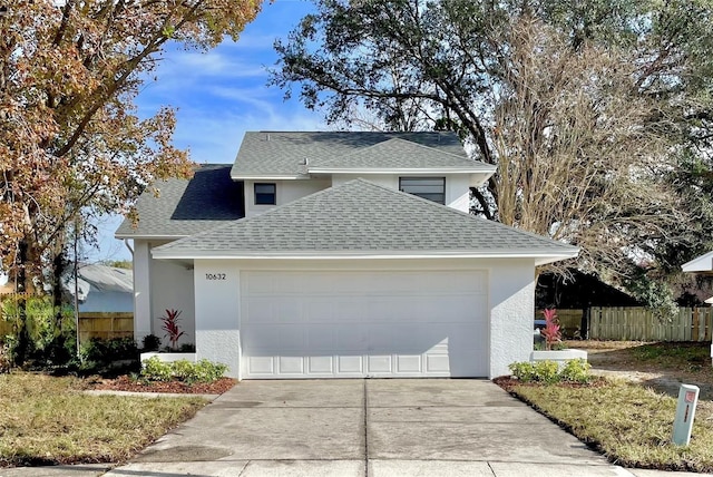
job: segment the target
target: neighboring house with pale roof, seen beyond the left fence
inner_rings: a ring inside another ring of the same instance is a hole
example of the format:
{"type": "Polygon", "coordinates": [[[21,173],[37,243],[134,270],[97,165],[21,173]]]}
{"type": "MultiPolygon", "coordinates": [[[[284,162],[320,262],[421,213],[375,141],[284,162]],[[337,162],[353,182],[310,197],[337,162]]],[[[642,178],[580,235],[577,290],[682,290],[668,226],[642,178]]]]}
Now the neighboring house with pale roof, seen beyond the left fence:
{"type": "MultiPolygon", "coordinates": [[[[98,263],[80,263],[77,267],[77,279],[80,312],[134,311],[134,280],[130,270],[98,263]]],[[[61,285],[70,296],[70,302],[74,302],[74,270],[62,276],[61,285]]]]}

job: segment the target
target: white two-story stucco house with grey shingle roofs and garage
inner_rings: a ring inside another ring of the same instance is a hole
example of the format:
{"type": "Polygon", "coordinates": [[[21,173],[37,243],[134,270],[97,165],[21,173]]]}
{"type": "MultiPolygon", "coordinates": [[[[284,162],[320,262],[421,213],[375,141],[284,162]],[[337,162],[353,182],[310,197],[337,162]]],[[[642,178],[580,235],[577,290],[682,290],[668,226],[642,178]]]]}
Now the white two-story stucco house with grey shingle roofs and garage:
{"type": "Polygon", "coordinates": [[[247,133],[138,203],[135,332],[180,309],[240,379],[495,377],[529,359],[535,266],[574,246],[468,214],[451,133],[247,133]]]}

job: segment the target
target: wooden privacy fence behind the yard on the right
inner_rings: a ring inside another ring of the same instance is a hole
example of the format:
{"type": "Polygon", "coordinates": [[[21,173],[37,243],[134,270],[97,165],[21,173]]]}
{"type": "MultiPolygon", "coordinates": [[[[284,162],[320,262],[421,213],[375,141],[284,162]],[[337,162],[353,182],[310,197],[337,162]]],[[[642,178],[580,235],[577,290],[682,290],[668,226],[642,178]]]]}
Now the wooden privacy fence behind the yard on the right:
{"type": "Polygon", "coordinates": [[[670,321],[645,308],[592,308],[588,337],[593,340],[711,341],[713,309],[680,308],[670,321]]]}

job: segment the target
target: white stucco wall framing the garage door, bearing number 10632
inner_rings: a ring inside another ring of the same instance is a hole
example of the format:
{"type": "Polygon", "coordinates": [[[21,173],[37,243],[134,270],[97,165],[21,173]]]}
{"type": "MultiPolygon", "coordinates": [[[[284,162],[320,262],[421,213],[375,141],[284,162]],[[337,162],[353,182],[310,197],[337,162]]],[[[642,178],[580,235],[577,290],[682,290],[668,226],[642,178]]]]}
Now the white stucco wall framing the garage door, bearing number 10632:
{"type": "Polygon", "coordinates": [[[199,359],[228,364],[229,376],[240,378],[241,271],[485,270],[490,276],[489,377],[507,374],[508,364],[527,361],[533,350],[534,266],[527,259],[196,260],[196,351],[199,359]]]}

